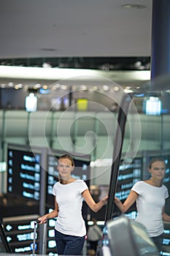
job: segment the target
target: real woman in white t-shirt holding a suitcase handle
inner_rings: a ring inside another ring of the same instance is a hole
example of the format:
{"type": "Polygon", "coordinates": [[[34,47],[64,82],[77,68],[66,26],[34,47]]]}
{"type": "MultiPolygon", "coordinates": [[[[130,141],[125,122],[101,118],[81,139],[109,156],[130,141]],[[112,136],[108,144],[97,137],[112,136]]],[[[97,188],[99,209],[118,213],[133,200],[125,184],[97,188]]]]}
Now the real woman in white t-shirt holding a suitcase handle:
{"type": "Polygon", "coordinates": [[[86,228],[82,218],[82,201],[88,204],[92,211],[97,212],[105,203],[107,197],[95,203],[87,184],[81,179],[71,176],[74,170],[74,160],[68,154],[58,159],[59,181],[53,186],[55,208],[50,214],[39,217],[40,224],[47,219],[57,217],[55,223],[55,241],[58,255],[81,255],[85,242],[86,228]]]}

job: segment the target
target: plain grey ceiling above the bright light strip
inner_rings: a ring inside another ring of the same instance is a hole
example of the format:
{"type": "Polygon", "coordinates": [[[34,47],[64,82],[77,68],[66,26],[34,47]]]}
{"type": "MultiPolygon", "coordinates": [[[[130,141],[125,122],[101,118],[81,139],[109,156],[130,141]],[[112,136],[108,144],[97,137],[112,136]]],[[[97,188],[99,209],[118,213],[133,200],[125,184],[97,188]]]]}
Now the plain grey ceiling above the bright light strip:
{"type": "Polygon", "coordinates": [[[54,67],[150,69],[152,0],[0,4],[1,65],[17,65],[19,60],[29,66],[34,59],[33,67],[42,60],[54,67]]]}

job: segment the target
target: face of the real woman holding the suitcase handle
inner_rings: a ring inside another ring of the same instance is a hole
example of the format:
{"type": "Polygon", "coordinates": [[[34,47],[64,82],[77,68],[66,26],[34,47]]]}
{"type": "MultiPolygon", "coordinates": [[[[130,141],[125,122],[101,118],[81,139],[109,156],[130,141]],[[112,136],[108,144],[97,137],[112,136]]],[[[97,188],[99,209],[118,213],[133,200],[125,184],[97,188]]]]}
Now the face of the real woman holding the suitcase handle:
{"type": "Polygon", "coordinates": [[[58,160],[58,172],[63,179],[69,178],[73,169],[74,169],[74,166],[72,166],[72,162],[70,159],[61,158],[58,160]]]}

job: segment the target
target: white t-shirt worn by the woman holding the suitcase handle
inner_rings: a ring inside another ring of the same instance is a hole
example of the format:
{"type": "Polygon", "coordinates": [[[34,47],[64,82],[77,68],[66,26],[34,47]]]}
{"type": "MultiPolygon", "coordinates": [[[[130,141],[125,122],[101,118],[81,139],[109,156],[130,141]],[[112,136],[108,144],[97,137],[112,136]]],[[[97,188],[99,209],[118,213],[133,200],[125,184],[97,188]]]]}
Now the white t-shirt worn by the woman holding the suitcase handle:
{"type": "Polygon", "coordinates": [[[88,189],[85,181],[77,179],[70,184],[57,182],[53,195],[58,203],[58,217],[55,229],[70,236],[85,236],[85,221],[82,218],[82,192],[88,189]]]}

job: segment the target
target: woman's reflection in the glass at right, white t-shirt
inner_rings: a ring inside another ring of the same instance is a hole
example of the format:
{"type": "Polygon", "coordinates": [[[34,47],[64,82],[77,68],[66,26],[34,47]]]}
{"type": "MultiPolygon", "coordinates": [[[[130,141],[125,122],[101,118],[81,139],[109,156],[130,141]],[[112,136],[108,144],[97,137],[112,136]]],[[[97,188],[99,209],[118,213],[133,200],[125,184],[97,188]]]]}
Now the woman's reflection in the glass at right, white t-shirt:
{"type": "Polygon", "coordinates": [[[168,189],[163,185],[166,172],[166,163],[163,158],[153,158],[148,167],[151,178],[146,181],[137,181],[132,187],[124,203],[115,197],[115,203],[122,213],[128,210],[136,201],[136,221],[141,222],[148,235],[161,251],[163,244],[163,220],[170,222],[170,216],[165,213],[165,201],[169,197],[168,189]]]}

